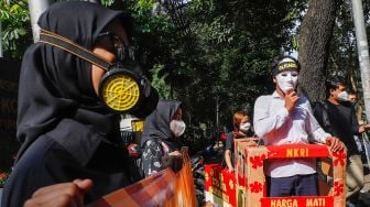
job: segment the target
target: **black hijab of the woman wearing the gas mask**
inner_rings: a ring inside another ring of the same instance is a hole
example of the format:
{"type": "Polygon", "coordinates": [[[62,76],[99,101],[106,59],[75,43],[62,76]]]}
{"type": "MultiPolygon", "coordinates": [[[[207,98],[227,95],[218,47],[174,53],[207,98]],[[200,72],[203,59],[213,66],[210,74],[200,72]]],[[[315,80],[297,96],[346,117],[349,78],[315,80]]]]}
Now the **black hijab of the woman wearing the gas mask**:
{"type": "MultiPolygon", "coordinates": [[[[130,25],[122,12],[97,3],[68,1],[52,4],[40,17],[39,25],[91,50],[98,34],[113,19],[120,19],[123,28],[130,25]]],[[[77,142],[94,149],[96,141],[88,138],[108,139],[118,133],[118,116],[110,113],[94,91],[90,63],[44,43],[28,48],[19,86],[17,137],[22,146],[18,159],[45,133],[70,146],[70,151],[78,150],[77,142]]]]}

